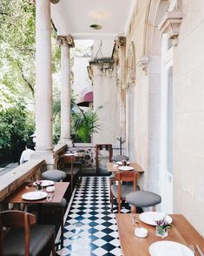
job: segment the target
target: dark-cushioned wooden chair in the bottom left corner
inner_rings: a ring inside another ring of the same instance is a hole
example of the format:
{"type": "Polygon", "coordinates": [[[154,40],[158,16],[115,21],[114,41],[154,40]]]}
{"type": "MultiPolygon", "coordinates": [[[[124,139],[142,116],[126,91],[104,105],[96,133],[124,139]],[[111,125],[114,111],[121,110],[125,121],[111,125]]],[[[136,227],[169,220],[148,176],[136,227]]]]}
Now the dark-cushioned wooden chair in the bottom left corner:
{"type": "Polygon", "coordinates": [[[50,245],[56,255],[55,226],[36,225],[36,216],[29,212],[0,212],[0,256],[49,255],[45,250],[50,245]]]}

